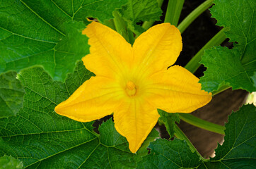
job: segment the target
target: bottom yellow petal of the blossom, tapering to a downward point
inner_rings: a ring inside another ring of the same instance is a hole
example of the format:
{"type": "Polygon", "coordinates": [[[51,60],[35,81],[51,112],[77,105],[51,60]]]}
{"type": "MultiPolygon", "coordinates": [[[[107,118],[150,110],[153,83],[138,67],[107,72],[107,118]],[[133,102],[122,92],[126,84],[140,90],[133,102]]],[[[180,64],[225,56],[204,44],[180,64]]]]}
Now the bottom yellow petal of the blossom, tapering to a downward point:
{"type": "Polygon", "coordinates": [[[139,149],[158,118],[156,108],[141,98],[124,101],[114,113],[115,128],[127,138],[132,153],[139,149]]]}

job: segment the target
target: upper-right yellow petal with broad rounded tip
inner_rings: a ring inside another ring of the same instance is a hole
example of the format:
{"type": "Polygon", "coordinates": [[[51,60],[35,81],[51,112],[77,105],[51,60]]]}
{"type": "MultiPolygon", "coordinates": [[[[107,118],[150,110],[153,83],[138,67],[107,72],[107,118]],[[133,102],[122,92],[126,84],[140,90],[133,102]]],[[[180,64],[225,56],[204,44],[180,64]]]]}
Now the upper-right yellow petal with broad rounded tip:
{"type": "Polygon", "coordinates": [[[180,31],[170,23],[153,26],[135,40],[133,49],[137,72],[151,74],[166,70],[182,50],[180,31]]]}

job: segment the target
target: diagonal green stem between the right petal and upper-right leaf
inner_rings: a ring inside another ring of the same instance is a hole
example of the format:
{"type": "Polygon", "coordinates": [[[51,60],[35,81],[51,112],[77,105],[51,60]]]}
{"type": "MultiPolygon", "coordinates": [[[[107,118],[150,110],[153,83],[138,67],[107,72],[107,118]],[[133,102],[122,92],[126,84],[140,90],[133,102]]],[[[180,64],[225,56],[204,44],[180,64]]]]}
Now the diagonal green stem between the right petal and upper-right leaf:
{"type": "Polygon", "coordinates": [[[225,39],[225,31],[228,30],[227,27],[223,27],[211,40],[200,49],[200,51],[197,52],[197,54],[190,60],[187,65],[185,65],[185,68],[189,70],[191,73],[194,73],[199,66],[201,65],[199,61],[201,61],[201,58],[204,54],[205,49],[211,48],[211,46],[218,46],[220,45],[225,39]]]}

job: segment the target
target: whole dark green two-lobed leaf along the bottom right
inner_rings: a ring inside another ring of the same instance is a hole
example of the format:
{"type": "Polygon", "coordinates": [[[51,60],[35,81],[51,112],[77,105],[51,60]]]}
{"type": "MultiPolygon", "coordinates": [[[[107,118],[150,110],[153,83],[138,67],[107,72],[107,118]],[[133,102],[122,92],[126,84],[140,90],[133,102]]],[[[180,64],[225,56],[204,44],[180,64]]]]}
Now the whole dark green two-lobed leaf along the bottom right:
{"type": "Polygon", "coordinates": [[[143,158],[139,168],[254,168],[256,107],[246,105],[228,118],[225,142],[216,156],[202,160],[192,153],[185,141],[158,139],[150,144],[151,154],[143,158]]]}

